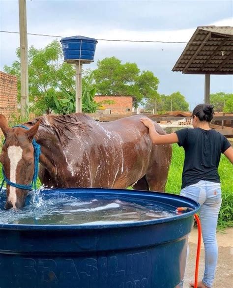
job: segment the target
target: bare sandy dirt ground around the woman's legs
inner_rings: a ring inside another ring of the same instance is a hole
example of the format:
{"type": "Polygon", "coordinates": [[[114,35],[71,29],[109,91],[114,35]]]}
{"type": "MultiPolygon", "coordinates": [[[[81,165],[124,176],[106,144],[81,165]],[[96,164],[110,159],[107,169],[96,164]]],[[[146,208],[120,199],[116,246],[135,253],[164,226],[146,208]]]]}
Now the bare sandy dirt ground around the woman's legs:
{"type": "MultiPolygon", "coordinates": [[[[226,229],[224,233],[217,232],[219,258],[213,288],[233,288],[233,228],[226,229]]],[[[198,233],[192,230],[189,237],[189,259],[185,272],[184,288],[194,280],[198,233]]],[[[204,247],[202,244],[199,265],[199,279],[204,273],[204,247]]]]}

